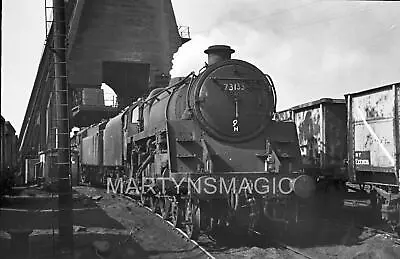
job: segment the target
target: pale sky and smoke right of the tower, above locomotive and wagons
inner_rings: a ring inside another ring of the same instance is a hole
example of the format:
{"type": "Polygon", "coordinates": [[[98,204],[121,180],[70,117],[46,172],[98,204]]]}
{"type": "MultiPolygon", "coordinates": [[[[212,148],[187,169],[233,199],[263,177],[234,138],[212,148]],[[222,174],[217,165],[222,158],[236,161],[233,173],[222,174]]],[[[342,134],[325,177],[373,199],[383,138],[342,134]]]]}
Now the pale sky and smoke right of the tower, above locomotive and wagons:
{"type": "Polygon", "coordinates": [[[192,39],[172,76],[198,71],[204,50],[230,45],[275,82],[278,110],[400,81],[400,3],[173,1],[192,39]]]}

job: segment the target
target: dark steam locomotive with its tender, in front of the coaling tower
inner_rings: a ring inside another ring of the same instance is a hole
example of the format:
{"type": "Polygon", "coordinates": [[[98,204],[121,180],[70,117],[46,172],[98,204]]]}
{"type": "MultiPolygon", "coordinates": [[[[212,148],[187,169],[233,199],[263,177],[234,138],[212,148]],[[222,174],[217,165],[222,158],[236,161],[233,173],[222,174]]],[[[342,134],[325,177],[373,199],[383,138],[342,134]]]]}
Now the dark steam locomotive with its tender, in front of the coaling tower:
{"type": "Polygon", "coordinates": [[[78,132],[82,181],[138,195],[196,239],[234,226],[292,223],[314,181],[301,173],[293,122],[275,121],[275,87],[210,46],[208,64],[78,132]]]}

